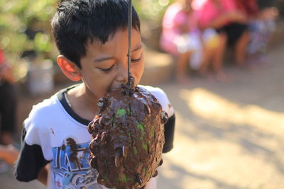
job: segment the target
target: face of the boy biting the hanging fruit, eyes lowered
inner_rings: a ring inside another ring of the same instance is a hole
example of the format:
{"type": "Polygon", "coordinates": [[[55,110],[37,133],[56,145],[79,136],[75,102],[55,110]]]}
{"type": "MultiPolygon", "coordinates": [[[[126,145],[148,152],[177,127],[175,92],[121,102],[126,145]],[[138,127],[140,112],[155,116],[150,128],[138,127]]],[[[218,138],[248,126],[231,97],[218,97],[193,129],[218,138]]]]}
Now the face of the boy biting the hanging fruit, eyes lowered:
{"type": "MultiPolygon", "coordinates": [[[[94,98],[101,98],[113,88],[126,84],[128,62],[128,30],[119,30],[114,36],[99,45],[89,42],[86,55],[80,59],[80,74],[87,93],[94,98]]],[[[139,83],[144,69],[143,48],[140,33],[132,29],[131,33],[131,75],[139,83]]]]}

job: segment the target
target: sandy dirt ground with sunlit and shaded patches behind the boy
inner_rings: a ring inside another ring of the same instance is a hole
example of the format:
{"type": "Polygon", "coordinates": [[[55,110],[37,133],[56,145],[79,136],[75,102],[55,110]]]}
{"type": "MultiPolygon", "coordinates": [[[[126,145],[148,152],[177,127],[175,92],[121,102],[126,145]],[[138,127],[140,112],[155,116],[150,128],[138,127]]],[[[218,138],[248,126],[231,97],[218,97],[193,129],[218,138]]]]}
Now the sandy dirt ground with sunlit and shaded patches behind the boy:
{"type": "MultiPolygon", "coordinates": [[[[175,147],[163,155],[158,188],[283,188],[283,52],[284,45],[274,47],[270,62],[250,70],[226,66],[231,81],[224,83],[192,76],[190,84],[158,85],[177,118],[175,147]]],[[[19,122],[46,96],[21,96],[19,122]]],[[[0,188],[45,188],[38,181],[19,183],[12,168],[0,182],[0,188]]]]}

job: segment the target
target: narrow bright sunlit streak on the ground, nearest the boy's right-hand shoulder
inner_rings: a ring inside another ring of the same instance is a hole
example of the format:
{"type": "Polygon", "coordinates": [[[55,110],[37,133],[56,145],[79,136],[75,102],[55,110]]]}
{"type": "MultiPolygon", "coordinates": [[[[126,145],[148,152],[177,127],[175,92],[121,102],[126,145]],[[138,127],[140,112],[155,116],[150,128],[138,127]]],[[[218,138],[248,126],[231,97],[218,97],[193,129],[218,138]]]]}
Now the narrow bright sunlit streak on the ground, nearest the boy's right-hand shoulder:
{"type": "Polygon", "coordinates": [[[250,125],[272,134],[277,134],[279,129],[284,128],[284,113],[275,113],[257,105],[239,105],[203,88],[192,91],[183,89],[180,98],[187,102],[188,108],[195,115],[210,122],[250,125]]]}

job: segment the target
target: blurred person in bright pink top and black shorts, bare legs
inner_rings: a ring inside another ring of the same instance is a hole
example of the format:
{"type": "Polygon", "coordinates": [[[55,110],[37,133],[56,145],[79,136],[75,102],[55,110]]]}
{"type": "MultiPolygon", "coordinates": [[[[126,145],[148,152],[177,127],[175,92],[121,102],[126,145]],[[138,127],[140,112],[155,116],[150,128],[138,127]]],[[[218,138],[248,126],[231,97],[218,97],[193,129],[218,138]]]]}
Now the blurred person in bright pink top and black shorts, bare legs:
{"type": "Polygon", "coordinates": [[[220,71],[219,79],[227,79],[222,72],[226,46],[234,47],[236,64],[245,64],[250,39],[246,15],[239,11],[234,0],[207,0],[200,8],[199,24],[201,28],[214,28],[219,33],[219,63],[216,69],[220,71]]]}

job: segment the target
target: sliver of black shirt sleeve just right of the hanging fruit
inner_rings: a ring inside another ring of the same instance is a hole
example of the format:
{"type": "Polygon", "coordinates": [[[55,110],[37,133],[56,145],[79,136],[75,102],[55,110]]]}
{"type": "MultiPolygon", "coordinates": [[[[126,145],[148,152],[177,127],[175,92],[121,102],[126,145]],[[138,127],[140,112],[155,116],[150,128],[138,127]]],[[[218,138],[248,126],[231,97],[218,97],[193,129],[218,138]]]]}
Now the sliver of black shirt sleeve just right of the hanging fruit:
{"type": "Polygon", "coordinates": [[[173,135],[175,132],[175,114],[172,115],[168,122],[165,123],[165,144],[163,147],[163,153],[167,153],[173,149],[173,135]]]}

